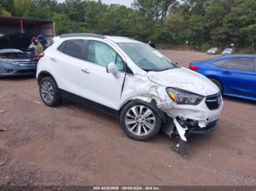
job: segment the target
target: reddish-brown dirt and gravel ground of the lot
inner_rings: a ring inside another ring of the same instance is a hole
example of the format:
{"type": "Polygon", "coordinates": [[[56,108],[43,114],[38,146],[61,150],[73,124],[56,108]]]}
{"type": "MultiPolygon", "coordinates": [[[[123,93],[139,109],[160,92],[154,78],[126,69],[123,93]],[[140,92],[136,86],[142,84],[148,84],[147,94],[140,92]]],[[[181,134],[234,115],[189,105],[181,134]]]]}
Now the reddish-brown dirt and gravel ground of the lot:
{"type": "MultiPolygon", "coordinates": [[[[162,52],[182,66],[211,57],[162,52]]],[[[34,78],[0,79],[0,185],[256,185],[256,104],[224,100],[216,130],[189,139],[185,159],[170,151],[175,138],[132,141],[105,114],[45,106],[34,78]]]]}

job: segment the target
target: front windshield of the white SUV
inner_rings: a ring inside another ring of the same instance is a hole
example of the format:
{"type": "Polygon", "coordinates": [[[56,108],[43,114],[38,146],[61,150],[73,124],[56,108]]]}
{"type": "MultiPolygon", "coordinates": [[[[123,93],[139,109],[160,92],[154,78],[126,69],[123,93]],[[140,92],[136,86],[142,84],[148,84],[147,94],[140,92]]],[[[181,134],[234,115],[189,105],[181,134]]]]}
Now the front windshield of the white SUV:
{"type": "Polygon", "coordinates": [[[140,69],[145,71],[164,71],[178,67],[147,44],[133,42],[121,42],[117,44],[140,69]]]}

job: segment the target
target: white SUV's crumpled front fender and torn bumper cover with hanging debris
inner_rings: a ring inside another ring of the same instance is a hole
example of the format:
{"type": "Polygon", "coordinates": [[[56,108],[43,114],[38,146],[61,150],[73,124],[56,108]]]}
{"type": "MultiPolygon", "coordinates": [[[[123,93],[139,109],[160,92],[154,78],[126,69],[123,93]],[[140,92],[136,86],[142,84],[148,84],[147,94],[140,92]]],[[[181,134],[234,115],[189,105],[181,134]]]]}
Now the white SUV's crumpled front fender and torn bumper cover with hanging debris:
{"type": "MultiPolygon", "coordinates": [[[[211,122],[208,115],[208,110],[203,104],[198,106],[178,105],[173,102],[166,93],[166,87],[159,85],[155,80],[151,80],[148,74],[135,74],[133,77],[128,77],[124,85],[123,98],[127,101],[141,100],[146,103],[155,102],[157,109],[167,115],[167,120],[164,122],[163,130],[168,136],[178,134],[180,140],[171,149],[187,157],[187,126],[179,122],[179,118],[195,120],[200,128],[205,128],[208,122],[211,122]],[[131,97],[131,95],[133,95],[131,97]]],[[[124,101],[125,102],[125,101],[124,101]]],[[[217,116],[218,118],[219,116],[217,116]]]]}

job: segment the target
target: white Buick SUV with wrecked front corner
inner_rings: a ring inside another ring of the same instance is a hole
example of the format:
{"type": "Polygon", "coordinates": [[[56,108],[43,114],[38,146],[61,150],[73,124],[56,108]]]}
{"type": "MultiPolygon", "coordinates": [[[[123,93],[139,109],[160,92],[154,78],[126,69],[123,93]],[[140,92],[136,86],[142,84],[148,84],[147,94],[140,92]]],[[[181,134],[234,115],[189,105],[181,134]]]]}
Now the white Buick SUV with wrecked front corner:
{"type": "Polygon", "coordinates": [[[211,131],[222,110],[219,88],[135,39],[63,34],[41,55],[42,101],[71,98],[120,119],[131,139],[146,141],[162,127],[168,135],[211,131]]]}

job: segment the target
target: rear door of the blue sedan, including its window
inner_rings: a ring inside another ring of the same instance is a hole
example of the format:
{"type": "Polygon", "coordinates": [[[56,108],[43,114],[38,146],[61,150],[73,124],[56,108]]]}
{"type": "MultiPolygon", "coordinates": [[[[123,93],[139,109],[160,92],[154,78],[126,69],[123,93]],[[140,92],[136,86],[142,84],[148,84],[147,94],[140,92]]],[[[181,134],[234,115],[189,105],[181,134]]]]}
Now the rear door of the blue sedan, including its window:
{"type": "Polygon", "coordinates": [[[225,84],[225,93],[255,97],[255,58],[230,58],[222,67],[220,75],[225,84]]]}

